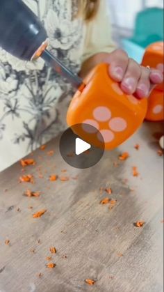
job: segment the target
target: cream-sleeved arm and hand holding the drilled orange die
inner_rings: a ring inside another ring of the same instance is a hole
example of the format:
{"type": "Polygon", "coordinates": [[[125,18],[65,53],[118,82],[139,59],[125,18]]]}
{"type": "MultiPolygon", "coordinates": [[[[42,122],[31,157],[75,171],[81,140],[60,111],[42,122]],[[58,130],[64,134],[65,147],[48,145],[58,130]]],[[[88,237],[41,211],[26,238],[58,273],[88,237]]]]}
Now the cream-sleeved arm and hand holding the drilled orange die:
{"type": "Polygon", "coordinates": [[[80,76],[85,77],[99,63],[109,64],[109,75],[120,82],[122,91],[148,97],[156,84],[163,82],[163,72],[149,70],[129,59],[122,49],[115,49],[111,38],[110,15],[106,0],[101,0],[97,17],[86,24],[85,47],[80,76]]]}

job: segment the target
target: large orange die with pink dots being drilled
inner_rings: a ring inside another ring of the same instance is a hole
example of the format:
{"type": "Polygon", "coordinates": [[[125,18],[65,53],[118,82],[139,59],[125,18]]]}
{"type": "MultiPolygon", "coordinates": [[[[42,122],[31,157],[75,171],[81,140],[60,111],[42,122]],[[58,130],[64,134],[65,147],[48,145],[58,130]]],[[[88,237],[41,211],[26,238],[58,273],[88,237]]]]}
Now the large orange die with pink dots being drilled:
{"type": "Polygon", "coordinates": [[[73,130],[74,125],[81,124],[76,130],[81,139],[101,147],[103,137],[106,150],[113,149],[138,130],[147,112],[147,100],[124,94],[120,85],[110,79],[106,63],[95,67],[84,83],[83,91],[77,91],[69,105],[67,124],[73,130]],[[90,128],[85,124],[95,130],[88,132],[90,128]]]}

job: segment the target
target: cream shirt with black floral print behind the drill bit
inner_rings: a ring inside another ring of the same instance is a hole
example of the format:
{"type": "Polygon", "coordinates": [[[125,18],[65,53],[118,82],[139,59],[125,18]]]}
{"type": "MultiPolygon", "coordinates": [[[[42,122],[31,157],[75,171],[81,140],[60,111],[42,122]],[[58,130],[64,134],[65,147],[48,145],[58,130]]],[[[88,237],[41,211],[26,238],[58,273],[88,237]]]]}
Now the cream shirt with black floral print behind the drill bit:
{"type": "MultiPolygon", "coordinates": [[[[74,17],[77,1],[24,0],[47,30],[51,53],[75,74],[84,59],[113,49],[106,0],[90,24],[74,17]],[[107,24],[108,38],[102,39],[107,24]]],[[[24,62],[0,48],[0,171],[66,128],[73,93],[67,80],[42,59],[24,62]]]]}

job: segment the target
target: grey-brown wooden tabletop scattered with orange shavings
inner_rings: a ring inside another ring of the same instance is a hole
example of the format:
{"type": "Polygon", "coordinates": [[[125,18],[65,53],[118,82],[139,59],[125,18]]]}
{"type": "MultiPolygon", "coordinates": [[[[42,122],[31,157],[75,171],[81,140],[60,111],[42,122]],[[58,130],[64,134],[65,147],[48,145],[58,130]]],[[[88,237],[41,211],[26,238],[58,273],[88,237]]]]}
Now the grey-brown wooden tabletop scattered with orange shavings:
{"type": "Polygon", "coordinates": [[[63,161],[57,138],[29,156],[35,166],[22,172],[18,162],[0,174],[1,292],[163,291],[163,157],[157,154],[158,132],[161,124],[145,123],[124,145],[85,170],[63,161]],[[135,144],[140,144],[138,151],[135,144]],[[51,150],[54,155],[47,155],[51,150]],[[122,151],[130,157],[121,162],[117,157],[122,151]],[[119,165],[113,167],[113,162],[119,165]],[[133,177],[133,166],[140,176],[133,177]],[[35,184],[19,183],[22,174],[32,174],[35,184]],[[50,182],[51,174],[69,180],[50,182]],[[113,194],[101,194],[100,187],[111,187],[113,194]],[[25,197],[27,189],[40,191],[40,197],[25,197]],[[104,197],[117,199],[112,210],[99,203],[104,197]],[[33,213],[43,208],[47,212],[34,219],[33,213]],[[138,220],[145,225],[134,226],[138,220]],[[51,246],[56,254],[49,252],[51,246]],[[55,268],[46,267],[47,256],[55,268]],[[87,278],[95,285],[85,284],[87,278]]]}

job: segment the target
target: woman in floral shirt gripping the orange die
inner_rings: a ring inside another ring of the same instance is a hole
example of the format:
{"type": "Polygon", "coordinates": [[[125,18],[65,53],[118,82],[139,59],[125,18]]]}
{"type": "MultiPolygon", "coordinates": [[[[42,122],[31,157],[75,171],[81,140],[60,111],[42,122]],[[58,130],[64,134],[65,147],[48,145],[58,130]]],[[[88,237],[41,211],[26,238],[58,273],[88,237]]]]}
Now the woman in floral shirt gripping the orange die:
{"type": "MultiPolygon", "coordinates": [[[[147,98],[162,82],[158,70],[141,67],[112,40],[106,0],[24,0],[40,17],[49,49],[81,77],[98,63],[122,91],[147,98]]],[[[72,87],[42,59],[24,62],[0,49],[0,170],[65,129],[72,87]]]]}

